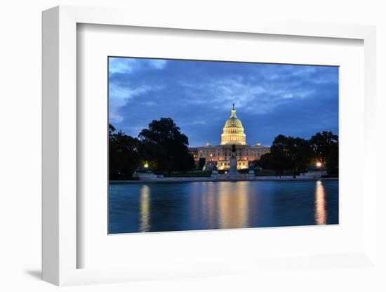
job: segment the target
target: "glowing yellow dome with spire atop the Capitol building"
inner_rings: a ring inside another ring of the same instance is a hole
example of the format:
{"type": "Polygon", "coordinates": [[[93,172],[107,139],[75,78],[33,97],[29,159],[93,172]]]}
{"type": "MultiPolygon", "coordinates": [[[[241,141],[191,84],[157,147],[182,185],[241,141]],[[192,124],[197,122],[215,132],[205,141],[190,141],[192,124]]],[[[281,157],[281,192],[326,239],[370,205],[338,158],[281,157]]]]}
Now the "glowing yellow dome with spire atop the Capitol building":
{"type": "Polygon", "coordinates": [[[222,128],[221,145],[246,145],[246,135],[244,134],[244,127],[241,121],[236,117],[236,110],[234,104],[232,113],[225,121],[225,126],[222,128]]]}

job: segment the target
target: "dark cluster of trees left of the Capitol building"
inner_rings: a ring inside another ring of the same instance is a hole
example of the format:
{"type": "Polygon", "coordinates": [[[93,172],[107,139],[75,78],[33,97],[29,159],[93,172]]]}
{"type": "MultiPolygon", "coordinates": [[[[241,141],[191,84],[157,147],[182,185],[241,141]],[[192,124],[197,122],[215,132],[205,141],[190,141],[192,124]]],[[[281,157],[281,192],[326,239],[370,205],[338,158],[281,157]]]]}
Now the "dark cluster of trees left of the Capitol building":
{"type": "Polygon", "coordinates": [[[194,159],[188,145],[187,136],[171,118],[152,121],[138,138],[117,132],[109,124],[109,179],[130,179],[136,169],[144,166],[168,175],[172,171],[190,171],[194,159]]]}

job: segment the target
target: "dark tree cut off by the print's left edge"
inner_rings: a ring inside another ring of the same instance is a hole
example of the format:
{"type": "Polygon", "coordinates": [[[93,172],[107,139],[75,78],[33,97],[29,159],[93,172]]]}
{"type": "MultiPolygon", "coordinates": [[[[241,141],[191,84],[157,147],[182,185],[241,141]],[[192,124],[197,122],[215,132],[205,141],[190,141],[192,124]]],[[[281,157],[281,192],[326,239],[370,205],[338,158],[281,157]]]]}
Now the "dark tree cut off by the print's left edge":
{"type": "Polygon", "coordinates": [[[109,124],[109,179],[127,180],[140,165],[140,141],[109,124]]]}

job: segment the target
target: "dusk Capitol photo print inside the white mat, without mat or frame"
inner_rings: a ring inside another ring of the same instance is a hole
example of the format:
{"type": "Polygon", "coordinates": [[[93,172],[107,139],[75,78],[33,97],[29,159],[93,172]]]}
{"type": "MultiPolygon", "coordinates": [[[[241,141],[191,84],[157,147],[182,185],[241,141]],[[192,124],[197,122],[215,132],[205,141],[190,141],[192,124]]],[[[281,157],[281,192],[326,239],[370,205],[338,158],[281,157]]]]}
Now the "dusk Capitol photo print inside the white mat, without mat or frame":
{"type": "Polygon", "coordinates": [[[339,223],[339,67],[107,61],[109,234],[339,223]]]}

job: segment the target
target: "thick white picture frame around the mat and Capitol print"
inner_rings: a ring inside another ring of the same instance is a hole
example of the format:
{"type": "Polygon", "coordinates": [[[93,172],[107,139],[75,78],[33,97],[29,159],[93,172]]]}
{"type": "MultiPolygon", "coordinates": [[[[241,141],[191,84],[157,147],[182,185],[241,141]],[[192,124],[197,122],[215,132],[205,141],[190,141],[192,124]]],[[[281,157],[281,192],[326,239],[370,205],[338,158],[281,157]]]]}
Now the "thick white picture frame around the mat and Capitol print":
{"type": "MultiPolygon", "coordinates": [[[[376,169],[375,143],[375,27],[364,25],[341,25],[328,23],[267,22],[253,20],[232,22],[194,15],[163,15],[154,13],[143,18],[135,11],[106,8],[83,8],[58,6],[43,13],[43,279],[56,285],[96,284],[135,279],[169,279],[174,277],[197,277],[237,274],[239,266],[246,265],[251,273],[267,268],[289,265],[302,267],[309,262],[336,268],[334,260],[354,263],[356,267],[376,265],[376,176],[364,171],[366,198],[363,206],[364,248],[357,253],[320,256],[311,254],[280,262],[277,259],[253,260],[240,258],[225,267],[220,262],[197,263],[185,266],[168,266],[154,263],[135,267],[78,268],[77,216],[79,205],[76,193],[79,182],[77,169],[77,120],[76,105],[76,25],[120,25],[134,27],[159,27],[173,29],[197,29],[199,31],[235,32],[307,36],[317,38],[358,39],[364,41],[364,96],[365,141],[364,169],[376,169]]],[[[214,235],[213,235],[214,236],[214,235]]]]}

